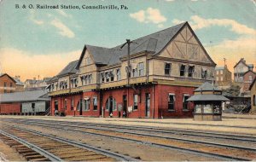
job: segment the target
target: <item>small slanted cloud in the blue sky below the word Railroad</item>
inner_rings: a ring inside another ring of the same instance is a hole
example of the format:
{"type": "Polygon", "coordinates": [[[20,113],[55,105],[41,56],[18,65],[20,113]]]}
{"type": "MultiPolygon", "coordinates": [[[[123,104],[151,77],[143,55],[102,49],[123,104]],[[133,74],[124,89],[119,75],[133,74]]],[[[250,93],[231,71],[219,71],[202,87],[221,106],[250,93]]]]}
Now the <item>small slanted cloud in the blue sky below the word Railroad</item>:
{"type": "Polygon", "coordinates": [[[63,37],[74,38],[74,33],[67,26],[65,26],[61,20],[55,19],[50,22],[52,26],[55,26],[59,30],[59,34],[63,37]]]}

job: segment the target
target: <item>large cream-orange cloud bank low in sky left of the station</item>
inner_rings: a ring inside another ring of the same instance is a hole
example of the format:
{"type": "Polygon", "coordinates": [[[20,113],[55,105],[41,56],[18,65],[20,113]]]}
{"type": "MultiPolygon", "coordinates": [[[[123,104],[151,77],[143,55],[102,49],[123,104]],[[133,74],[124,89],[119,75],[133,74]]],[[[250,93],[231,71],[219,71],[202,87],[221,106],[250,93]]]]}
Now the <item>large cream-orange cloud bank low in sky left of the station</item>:
{"type": "Polygon", "coordinates": [[[0,54],[2,72],[11,76],[20,75],[21,79],[25,80],[38,75],[40,78],[55,76],[68,62],[78,60],[81,51],[37,55],[19,49],[4,48],[0,49],[0,54]],[[9,61],[9,54],[12,54],[12,61],[9,61]]]}

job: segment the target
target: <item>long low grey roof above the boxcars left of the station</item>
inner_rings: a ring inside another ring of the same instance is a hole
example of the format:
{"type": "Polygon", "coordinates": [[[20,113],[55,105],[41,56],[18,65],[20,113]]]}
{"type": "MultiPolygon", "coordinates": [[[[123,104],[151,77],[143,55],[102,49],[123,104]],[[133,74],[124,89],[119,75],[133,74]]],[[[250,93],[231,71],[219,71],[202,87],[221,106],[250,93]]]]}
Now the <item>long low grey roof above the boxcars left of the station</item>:
{"type": "Polygon", "coordinates": [[[33,90],[15,93],[6,93],[0,95],[0,102],[24,102],[24,101],[49,101],[49,97],[45,98],[47,91],[33,90]],[[44,95],[44,96],[43,96],[44,95]]]}

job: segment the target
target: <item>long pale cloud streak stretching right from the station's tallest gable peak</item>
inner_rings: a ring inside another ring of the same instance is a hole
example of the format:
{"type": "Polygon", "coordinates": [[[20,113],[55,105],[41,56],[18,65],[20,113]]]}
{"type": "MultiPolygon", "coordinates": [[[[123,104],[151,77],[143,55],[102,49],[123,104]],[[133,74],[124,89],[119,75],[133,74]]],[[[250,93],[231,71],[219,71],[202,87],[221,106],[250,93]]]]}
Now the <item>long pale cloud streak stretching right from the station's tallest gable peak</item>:
{"type": "MultiPolygon", "coordinates": [[[[224,26],[230,27],[231,32],[236,32],[237,34],[256,34],[256,30],[245,26],[236,20],[230,19],[204,19],[198,15],[193,15],[190,17],[191,21],[189,24],[193,28],[193,30],[198,30],[202,28],[207,28],[210,26],[224,26]]],[[[172,20],[174,24],[178,24],[181,20],[172,20]]]]}

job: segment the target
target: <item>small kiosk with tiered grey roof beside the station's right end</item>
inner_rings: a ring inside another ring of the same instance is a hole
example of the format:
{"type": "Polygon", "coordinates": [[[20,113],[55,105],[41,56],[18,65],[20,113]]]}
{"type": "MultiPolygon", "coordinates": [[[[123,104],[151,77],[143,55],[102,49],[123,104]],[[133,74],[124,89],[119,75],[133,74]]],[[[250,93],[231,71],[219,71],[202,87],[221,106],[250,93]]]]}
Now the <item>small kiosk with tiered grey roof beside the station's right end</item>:
{"type": "Polygon", "coordinates": [[[222,95],[222,91],[206,82],[194,90],[194,95],[187,101],[194,102],[194,119],[220,121],[223,101],[230,101],[222,95]]]}

